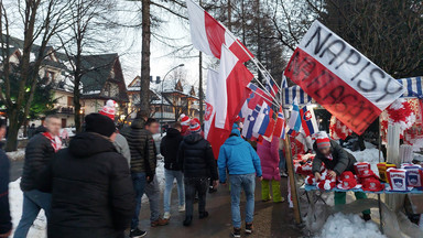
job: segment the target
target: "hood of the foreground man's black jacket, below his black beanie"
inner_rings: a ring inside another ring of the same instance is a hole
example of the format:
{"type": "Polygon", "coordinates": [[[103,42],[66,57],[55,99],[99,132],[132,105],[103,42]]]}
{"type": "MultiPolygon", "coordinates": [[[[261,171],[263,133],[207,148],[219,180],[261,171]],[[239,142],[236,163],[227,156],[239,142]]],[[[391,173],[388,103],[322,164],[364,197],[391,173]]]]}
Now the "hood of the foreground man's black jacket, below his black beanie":
{"type": "Polygon", "coordinates": [[[76,134],[69,143],[69,152],[77,158],[89,158],[91,155],[116,151],[111,141],[97,133],[83,132],[76,134]]]}

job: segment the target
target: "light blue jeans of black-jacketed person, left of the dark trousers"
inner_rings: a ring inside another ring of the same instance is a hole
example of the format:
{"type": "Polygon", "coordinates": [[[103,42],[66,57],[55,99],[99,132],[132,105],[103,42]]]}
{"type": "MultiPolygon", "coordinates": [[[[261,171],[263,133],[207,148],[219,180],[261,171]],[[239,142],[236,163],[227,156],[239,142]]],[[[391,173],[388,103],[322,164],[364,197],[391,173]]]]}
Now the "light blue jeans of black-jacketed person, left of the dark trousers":
{"type": "Polygon", "coordinates": [[[184,188],[184,174],[182,171],[173,171],[164,169],[165,187],[163,206],[164,213],[171,213],[171,195],[173,188],[173,181],[176,178],[177,184],[177,197],[180,198],[180,206],[185,205],[185,188],[184,188]]]}

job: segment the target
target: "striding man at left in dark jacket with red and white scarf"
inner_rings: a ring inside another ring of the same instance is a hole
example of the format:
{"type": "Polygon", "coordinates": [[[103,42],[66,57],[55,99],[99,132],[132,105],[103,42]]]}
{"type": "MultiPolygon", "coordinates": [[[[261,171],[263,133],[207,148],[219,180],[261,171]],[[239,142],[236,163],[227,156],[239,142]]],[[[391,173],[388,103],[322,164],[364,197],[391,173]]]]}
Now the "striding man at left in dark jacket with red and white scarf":
{"type": "Polygon", "coordinates": [[[51,210],[51,194],[39,191],[36,181],[40,173],[48,165],[54,153],[62,147],[58,138],[62,121],[57,116],[45,118],[42,127],[37,128],[25,149],[25,162],[21,178],[23,191],[22,217],[14,231],[15,238],[24,238],[34,223],[40,209],[44,209],[47,220],[51,210]]]}

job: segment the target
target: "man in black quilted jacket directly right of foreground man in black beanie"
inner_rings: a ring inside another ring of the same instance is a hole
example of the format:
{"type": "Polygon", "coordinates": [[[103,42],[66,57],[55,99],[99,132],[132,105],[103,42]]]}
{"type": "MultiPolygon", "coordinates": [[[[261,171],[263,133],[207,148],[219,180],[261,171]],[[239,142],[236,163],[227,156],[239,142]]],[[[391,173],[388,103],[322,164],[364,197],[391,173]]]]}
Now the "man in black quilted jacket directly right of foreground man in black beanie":
{"type": "Polygon", "coordinates": [[[130,237],[139,238],[147,235],[138,228],[141,210],[141,197],[145,192],[147,183],[152,182],[155,175],[155,154],[154,141],[150,131],[145,130],[145,119],[137,117],[131,128],[123,130],[122,134],[127,138],[131,151],[131,176],[135,191],[135,212],[131,221],[130,237]]]}

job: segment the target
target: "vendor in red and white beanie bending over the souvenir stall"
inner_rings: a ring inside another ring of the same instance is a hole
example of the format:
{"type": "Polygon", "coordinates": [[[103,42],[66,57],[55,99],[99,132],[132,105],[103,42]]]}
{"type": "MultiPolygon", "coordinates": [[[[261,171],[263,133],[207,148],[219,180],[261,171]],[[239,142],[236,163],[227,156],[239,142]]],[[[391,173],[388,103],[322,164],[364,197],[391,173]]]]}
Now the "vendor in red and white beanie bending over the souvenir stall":
{"type": "MultiPolygon", "coordinates": [[[[316,181],[319,181],[322,177],[322,163],[324,163],[326,169],[330,171],[328,173],[329,177],[339,176],[345,171],[350,171],[354,174],[356,173],[354,170],[354,163],[357,162],[356,158],[344,150],[337,142],[330,140],[326,132],[318,133],[313,149],[316,152],[316,156],[313,160],[312,172],[316,181]]],[[[346,196],[345,192],[335,192],[335,205],[345,204],[346,196]]],[[[355,196],[357,199],[367,198],[366,194],[362,192],[356,192],[355,196]]],[[[370,220],[370,210],[364,210],[362,218],[365,220],[370,220]]]]}

